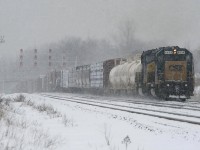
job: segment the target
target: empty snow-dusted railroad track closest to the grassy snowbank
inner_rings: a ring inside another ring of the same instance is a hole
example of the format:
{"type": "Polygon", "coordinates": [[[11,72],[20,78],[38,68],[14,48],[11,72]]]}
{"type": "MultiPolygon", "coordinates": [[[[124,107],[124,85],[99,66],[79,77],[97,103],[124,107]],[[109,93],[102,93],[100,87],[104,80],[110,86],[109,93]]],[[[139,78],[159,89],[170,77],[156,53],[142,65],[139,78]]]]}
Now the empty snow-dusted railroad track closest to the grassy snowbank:
{"type": "Polygon", "coordinates": [[[173,121],[178,121],[178,122],[200,125],[200,116],[197,116],[197,115],[181,114],[181,113],[160,111],[160,110],[154,110],[154,109],[148,109],[148,108],[138,108],[138,107],[133,107],[133,106],[124,106],[124,105],[113,104],[113,103],[108,103],[108,102],[88,100],[86,98],[80,98],[80,97],[71,97],[71,96],[60,97],[60,96],[48,95],[48,94],[41,94],[41,95],[44,97],[53,98],[57,100],[69,101],[73,103],[90,105],[90,106],[95,106],[95,107],[100,107],[100,108],[112,109],[112,110],[117,110],[117,111],[141,114],[141,115],[146,115],[146,116],[151,116],[151,117],[157,117],[157,118],[168,119],[168,120],[173,120],[173,121]]]}

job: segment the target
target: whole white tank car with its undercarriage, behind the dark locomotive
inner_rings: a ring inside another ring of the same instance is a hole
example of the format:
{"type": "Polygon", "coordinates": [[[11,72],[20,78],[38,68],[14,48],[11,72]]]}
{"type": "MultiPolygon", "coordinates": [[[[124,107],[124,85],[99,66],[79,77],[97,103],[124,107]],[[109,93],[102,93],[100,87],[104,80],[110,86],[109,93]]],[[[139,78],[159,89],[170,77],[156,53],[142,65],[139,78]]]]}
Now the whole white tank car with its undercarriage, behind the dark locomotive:
{"type": "Polygon", "coordinates": [[[139,84],[137,78],[141,70],[141,55],[136,55],[115,66],[109,74],[110,91],[118,94],[136,94],[139,90],[137,89],[137,84],[139,84]]]}

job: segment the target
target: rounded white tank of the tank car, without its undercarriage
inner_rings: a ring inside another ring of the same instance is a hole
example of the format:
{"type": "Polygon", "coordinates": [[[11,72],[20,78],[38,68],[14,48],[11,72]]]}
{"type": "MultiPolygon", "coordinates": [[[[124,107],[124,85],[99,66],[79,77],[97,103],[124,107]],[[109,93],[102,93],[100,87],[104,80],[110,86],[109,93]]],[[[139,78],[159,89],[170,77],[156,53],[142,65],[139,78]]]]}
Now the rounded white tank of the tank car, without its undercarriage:
{"type": "Polygon", "coordinates": [[[135,74],[141,72],[141,60],[128,61],[114,67],[109,74],[113,89],[131,89],[135,86],[135,74]]]}

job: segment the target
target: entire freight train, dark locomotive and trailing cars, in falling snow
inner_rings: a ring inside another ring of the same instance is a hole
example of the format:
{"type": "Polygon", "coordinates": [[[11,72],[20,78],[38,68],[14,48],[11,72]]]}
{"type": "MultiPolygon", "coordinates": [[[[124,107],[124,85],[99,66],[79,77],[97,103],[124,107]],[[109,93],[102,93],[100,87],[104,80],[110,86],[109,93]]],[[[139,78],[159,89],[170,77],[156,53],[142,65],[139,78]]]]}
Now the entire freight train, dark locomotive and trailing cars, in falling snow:
{"type": "Polygon", "coordinates": [[[38,92],[150,94],[166,100],[185,100],[194,91],[193,55],[178,46],[161,47],[144,51],[133,59],[116,58],[51,71],[36,83],[38,92]]]}

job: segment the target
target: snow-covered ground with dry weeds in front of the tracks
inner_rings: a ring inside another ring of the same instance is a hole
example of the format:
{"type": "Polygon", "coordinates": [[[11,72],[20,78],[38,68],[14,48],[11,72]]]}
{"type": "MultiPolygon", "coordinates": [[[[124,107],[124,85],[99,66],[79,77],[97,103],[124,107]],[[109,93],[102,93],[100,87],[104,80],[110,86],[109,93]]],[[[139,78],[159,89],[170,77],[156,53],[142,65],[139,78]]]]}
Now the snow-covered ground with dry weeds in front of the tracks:
{"type": "Polygon", "coordinates": [[[198,125],[18,95],[4,96],[0,105],[0,150],[126,150],[126,143],[128,150],[200,147],[198,125]]]}

